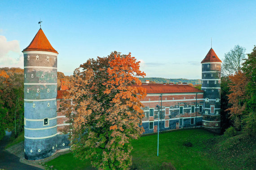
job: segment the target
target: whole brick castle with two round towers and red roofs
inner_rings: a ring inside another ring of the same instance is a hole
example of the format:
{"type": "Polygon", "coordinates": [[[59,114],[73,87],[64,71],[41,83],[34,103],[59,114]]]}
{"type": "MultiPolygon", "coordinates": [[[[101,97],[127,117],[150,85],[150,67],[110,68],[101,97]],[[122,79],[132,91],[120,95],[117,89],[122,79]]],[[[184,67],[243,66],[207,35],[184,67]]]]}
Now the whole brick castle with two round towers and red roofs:
{"type": "MultiPolygon", "coordinates": [[[[69,149],[68,125],[58,112],[65,89],[57,90],[57,55],[43,30],[35,35],[24,54],[24,152],[27,160],[40,160],[69,149]]],[[[143,83],[147,96],[141,102],[145,133],[185,127],[220,131],[221,60],[213,49],[202,63],[202,90],[186,83],[143,83]],[[160,97],[161,96],[161,97],[160,97]],[[159,106],[162,105],[160,109],[159,106]],[[158,112],[159,127],[158,127],[158,112]]],[[[72,102],[72,101],[71,101],[72,102]]]]}

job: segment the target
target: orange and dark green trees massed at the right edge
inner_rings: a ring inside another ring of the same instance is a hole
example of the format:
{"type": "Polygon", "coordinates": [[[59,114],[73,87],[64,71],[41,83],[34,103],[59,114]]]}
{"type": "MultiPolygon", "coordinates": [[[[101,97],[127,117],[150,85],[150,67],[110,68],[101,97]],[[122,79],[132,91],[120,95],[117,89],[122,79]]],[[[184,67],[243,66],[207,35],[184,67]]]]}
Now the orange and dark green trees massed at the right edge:
{"type": "Polygon", "coordinates": [[[229,78],[231,83],[228,97],[232,106],[227,110],[235,118],[234,125],[238,124],[241,130],[256,135],[256,47],[248,54],[241,71],[229,78]]]}

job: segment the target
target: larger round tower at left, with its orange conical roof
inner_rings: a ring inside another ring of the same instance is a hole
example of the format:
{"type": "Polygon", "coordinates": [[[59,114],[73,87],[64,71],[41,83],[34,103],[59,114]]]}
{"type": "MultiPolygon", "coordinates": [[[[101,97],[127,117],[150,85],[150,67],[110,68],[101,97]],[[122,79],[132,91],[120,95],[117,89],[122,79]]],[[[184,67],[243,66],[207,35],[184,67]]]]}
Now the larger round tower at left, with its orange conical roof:
{"type": "Polygon", "coordinates": [[[43,30],[24,54],[25,159],[50,157],[57,149],[57,55],[43,30]]]}

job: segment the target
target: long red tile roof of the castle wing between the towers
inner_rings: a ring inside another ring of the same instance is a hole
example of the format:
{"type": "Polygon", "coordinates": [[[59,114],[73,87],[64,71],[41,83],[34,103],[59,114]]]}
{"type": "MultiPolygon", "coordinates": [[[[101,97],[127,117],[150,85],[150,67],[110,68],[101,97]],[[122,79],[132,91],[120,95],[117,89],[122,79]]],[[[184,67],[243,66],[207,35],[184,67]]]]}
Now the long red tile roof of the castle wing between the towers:
{"type": "MultiPolygon", "coordinates": [[[[139,86],[139,85],[134,85],[139,86]]],[[[190,85],[173,85],[173,84],[146,84],[143,83],[141,87],[146,89],[146,93],[191,93],[203,92],[203,90],[196,89],[190,85]]]]}

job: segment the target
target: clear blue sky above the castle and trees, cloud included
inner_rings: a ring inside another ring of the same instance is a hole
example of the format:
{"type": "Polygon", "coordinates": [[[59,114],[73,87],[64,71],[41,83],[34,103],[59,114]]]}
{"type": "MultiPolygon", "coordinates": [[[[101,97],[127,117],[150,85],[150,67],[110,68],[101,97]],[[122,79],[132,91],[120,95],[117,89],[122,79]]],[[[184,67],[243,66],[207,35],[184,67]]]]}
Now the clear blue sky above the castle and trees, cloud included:
{"type": "Polygon", "coordinates": [[[89,58],[131,52],[146,77],[201,79],[212,48],[256,45],[255,0],[0,0],[0,67],[23,68],[22,50],[40,29],[72,75],[89,58]]]}

